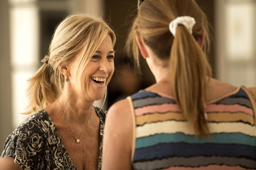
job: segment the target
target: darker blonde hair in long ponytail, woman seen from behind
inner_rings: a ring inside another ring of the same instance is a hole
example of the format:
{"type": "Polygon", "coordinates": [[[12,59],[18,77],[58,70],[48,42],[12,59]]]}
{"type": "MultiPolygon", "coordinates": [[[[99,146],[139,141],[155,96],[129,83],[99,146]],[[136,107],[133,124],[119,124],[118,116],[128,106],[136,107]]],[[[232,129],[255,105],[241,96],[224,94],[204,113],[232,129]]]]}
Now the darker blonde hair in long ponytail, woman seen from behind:
{"type": "Polygon", "coordinates": [[[144,0],[130,30],[126,49],[134,57],[139,70],[139,49],[135,36],[139,35],[159,59],[169,60],[171,82],[177,104],[195,131],[195,135],[209,134],[204,117],[207,76],[212,72],[205,51],[209,47],[208,23],[204,12],[194,0],[144,0]],[[169,23],[177,17],[195,18],[193,33],[179,25],[175,38],[169,23]],[[197,40],[204,36],[203,50],[197,40]]]}

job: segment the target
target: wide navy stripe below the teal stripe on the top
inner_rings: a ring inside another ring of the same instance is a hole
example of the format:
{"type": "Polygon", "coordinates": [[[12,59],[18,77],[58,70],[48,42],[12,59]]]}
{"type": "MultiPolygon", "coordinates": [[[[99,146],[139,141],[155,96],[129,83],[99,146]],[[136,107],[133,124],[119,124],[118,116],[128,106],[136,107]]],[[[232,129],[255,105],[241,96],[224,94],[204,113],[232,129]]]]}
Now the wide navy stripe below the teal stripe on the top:
{"type": "Polygon", "coordinates": [[[168,143],[136,149],[134,162],[163,159],[172,156],[228,156],[256,160],[256,147],[241,144],[168,143]]]}

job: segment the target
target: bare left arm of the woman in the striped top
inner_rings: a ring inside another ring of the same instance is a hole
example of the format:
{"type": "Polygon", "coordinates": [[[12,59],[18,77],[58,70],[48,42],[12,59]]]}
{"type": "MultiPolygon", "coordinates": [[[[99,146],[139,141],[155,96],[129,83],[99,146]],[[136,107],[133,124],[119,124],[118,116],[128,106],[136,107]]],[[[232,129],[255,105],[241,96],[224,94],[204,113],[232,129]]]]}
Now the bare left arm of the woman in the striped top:
{"type": "Polygon", "coordinates": [[[102,170],[132,170],[132,126],[128,99],[112,105],[105,122],[102,170]]]}

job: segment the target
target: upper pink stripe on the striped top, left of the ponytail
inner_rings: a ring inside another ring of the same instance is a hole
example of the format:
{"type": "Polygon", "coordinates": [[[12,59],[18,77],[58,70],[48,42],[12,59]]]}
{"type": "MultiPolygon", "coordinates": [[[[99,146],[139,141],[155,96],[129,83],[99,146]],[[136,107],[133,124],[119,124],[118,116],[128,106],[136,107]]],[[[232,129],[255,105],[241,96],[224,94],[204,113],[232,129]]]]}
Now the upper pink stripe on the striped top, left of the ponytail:
{"type": "Polygon", "coordinates": [[[163,105],[153,105],[153,106],[145,106],[143,108],[135,109],[135,115],[141,116],[146,113],[155,113],[155,112],[178,112],[180,108],[177,104],[163,104],[163,105]]]}

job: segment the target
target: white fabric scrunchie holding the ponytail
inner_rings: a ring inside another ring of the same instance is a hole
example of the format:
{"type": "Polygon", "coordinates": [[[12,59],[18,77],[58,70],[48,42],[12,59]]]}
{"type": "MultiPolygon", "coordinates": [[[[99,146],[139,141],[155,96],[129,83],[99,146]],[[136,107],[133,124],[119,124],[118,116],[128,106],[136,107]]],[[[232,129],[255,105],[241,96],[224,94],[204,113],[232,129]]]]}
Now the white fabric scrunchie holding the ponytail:
{"type": "Polygon", "coordinates": [[[169,24],[169,29],[173,35],[173,37],[175,37],[176,34],[176,29],[177,26],[179,24],[182,24],[183,26],[185,26],[189,32],[192,34],[192,29],[193,26],[195,25],[195,19],[193,17],[189,17],[189,16],[184,16],[184,17],[177,17],[175,20],[173,20],[170,24],[169,24]]]}

